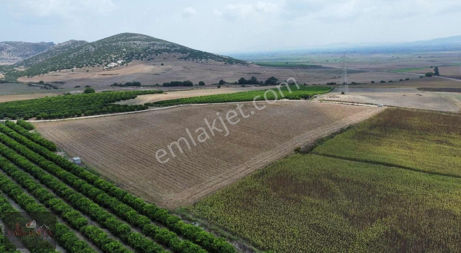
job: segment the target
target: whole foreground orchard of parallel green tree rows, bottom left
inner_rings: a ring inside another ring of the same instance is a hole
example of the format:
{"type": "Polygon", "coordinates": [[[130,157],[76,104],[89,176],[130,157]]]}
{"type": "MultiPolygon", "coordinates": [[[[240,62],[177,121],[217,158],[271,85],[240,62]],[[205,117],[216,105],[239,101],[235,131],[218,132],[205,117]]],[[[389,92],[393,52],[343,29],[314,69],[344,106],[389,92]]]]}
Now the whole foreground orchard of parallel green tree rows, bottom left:
{"type": "Polygon", "coordinates": [[[53,143],[23,126],[32,127],[24,121],[0,125],[0,219],[18,211],[5,194],[29,214],[48,211],[62,219],[53,233],[68,253],[236,253],[224,238],[55,154],[53,143]]]}

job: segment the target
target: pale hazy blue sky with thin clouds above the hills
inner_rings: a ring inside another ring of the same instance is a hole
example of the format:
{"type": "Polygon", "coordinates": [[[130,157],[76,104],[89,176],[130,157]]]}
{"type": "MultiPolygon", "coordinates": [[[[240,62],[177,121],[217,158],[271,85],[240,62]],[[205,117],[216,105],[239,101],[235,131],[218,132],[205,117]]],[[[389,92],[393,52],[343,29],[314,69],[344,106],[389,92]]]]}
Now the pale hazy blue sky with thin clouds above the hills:
{"type": "Polygon", "coordinates": [[[461,35],[460,0],[0,0],[0,41],[142,33],[215,53],[461,35]]]}

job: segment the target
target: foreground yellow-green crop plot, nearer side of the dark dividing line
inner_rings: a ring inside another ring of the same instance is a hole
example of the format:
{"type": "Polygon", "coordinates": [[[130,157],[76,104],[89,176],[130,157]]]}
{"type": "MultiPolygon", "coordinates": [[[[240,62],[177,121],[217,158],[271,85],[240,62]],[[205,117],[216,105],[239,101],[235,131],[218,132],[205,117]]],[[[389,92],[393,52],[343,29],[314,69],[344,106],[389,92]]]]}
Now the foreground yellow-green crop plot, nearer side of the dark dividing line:
{"type": "Polygon", "coordinates": [[[459,252],[461,180],[291,155],[189,207],[275,252],[459,252]]]}

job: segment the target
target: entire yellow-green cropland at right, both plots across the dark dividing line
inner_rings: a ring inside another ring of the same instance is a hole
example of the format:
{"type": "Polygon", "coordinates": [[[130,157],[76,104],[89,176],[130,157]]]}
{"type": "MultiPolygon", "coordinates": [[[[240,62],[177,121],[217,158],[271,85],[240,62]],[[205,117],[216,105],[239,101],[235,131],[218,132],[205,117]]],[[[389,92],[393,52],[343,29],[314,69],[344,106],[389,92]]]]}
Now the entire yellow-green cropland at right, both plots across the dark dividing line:
{"type": "Polygon", "coordinates": [[[460,120],[386,109],[187,210],[274,252],[460,252],[460,120]]]}

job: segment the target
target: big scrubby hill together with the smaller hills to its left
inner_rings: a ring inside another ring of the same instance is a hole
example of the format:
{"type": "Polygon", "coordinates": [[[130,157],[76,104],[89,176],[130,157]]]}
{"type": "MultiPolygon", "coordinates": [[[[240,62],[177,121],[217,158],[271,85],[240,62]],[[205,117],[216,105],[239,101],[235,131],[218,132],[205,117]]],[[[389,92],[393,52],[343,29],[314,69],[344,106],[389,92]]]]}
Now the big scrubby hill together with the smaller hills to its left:
{"type": "Polygon", "coordinates": [[[203,52],[148,35],[133,33],[113,35],[94,42],[69,40],[56,45],[53,42],[0,42],[0,45],[4,45],[0,48],[0,55],[9,57],[4,59],[21,59],[10,67],[0,68],[0,72],[6,75],[14,74],[15,77],[93,66],[110,69],[130,63],[132,60],[155,59],[162,54],[173,54],[177,60],[246,64],[245,61],[232,57],[203,52]],[[14,68],[25,70],[17,71],[14,68]]]}

